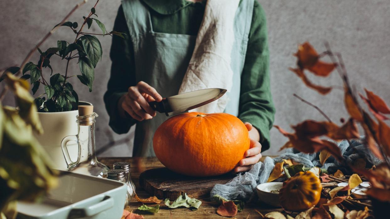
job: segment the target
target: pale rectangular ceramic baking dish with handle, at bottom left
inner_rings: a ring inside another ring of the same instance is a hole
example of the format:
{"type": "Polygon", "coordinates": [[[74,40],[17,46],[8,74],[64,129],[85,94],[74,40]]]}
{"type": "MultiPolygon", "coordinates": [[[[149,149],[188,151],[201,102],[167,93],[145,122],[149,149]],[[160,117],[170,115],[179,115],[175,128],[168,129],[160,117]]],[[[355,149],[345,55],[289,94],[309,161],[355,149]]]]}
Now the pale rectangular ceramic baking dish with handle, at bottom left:
{"type": "Polygon", "coordinates": [[[60,171],[57,188],[41,202],[18,202],[17,219],[120,219],[126,185],[115,180],[60,171]]]}

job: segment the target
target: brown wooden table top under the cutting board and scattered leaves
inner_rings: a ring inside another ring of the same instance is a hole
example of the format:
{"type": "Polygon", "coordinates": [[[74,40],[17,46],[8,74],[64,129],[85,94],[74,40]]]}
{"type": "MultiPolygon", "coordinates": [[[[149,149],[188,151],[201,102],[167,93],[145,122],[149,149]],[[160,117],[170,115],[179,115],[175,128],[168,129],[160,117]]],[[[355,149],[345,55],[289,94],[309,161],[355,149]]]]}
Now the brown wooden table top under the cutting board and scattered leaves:
{"type": "MultiPolygon", "coordinates": [[[[98,158],[98,160],[110,168],[112,168],[113,163],[116,162],[131,163],[131,179],[136,186],[136,192],[140,198],[150,197],[150,194],[140,187],[140,173],[152,168],[163,167],[157,158],[98,158]]],[[[261,160],[264,160],[264,158],[261,160]]],[[[133,213],[142,214],[145,218],[223,218],[222,216],[216,214],[216,210],[219,206],[218,203],[210,201],[209,198],[202,198],[199,200],[202,201],[202,205],[200,205],[199,209],[195,211],[184,207],[171,209],[165,206],[163,202],[161,202],[158,213],[151,214],[137,210],[137,208],[140,207],[142,203],[137,202],[135,199],[131,201],[130,207],[133,209],[133,213]]],[[[149,206],[152,204],[147,205],[149,206]]],[[[269,205],[260,203],[259,201],[257,201],[257,203],[245,203],[244,210],[238,212],[235,218],[261,218],[259,213],[257,213],[255,210],[258,210],[264,215],[271,211],[282,211],[282,208],[273,208],[269,205]]]]}

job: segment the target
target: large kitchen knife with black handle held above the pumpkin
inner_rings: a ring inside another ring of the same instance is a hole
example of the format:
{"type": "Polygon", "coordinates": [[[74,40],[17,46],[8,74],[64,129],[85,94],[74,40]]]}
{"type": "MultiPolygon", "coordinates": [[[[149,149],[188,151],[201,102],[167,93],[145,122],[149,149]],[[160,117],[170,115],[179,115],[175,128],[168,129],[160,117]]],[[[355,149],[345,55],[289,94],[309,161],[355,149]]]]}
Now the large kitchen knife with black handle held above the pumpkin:
{"type": "Polygon", "coordinates": [[[163,98],[161,102],[149,102],[153,110],[173,116],[211,103],[226,93],[226,89],[208,88],[163,98]]]}

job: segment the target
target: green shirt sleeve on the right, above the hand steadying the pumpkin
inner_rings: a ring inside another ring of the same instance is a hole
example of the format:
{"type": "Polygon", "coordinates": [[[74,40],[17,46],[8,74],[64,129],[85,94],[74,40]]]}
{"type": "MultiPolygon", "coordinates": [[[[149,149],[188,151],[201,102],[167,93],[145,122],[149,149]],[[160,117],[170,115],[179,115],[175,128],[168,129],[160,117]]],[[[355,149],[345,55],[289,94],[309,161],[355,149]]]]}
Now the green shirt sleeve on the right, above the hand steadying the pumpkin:
{"type": "Polygon", "coordinates": [[[248,49],[241,75],[239,119],[251,123],[260,133],[262,151],[269,149],[269,130],[275,107],[269,82],[269,51],[266,16],[255,0],[248,49]]]}

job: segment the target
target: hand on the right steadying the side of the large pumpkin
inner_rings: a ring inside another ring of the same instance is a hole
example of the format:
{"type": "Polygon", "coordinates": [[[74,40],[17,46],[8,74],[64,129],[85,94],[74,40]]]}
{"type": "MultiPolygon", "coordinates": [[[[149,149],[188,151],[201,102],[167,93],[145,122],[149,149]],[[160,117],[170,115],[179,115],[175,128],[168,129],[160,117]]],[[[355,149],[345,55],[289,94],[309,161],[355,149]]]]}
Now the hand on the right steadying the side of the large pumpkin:
{"type": "Polygon", "coordinates": [[[252,166],[259,162],[261,158],[261,144],[259,143],[260,140],[260,134],[259,131],[257,131],[256,128],[253,128],[252,124],[245,123],[246,128],[249,131],[249,138],[250,138],[250,148],[245,151],[244,156],[246,158],[241,159],[238,162],[238,165],[236,168],[234,168],[233,172],[245,172],[252,168],[252,166]]]}

